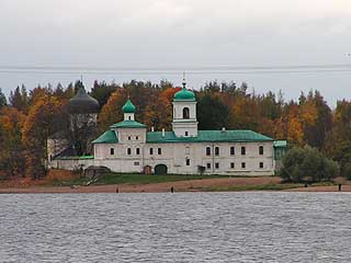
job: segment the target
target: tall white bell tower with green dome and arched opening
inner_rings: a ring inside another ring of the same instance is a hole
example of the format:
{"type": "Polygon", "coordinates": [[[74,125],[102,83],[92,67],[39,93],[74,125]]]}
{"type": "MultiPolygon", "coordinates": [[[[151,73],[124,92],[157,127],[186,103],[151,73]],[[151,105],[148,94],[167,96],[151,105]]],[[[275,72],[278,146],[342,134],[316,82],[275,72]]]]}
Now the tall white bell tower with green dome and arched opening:
{"type": "Polygon", "coordinates": [[[183,89],[173,98],[172,128],[177,137],[197,137],[196,99],[192,91],[183,89]]]}

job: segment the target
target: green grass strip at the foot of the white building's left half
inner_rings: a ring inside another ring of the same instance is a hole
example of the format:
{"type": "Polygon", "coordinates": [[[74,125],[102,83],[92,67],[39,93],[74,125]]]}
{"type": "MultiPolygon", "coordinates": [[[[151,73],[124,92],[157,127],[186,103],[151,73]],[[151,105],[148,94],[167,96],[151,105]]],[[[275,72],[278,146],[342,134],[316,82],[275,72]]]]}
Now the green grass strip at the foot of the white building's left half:
{"type": "MultiPolygon", "coordinates": [[[[228,178],[227,175],[145,175],[145,174],[121,174],[121,173],[107,173],[95,185],[102,184],[150,184],[150,183],[163,183],[163,182],[176,182],[185,180],[202,180],[202,179],[214,179],[214,178],[228,178]]],[[[70,181],[55,181],[54,185],[81,185],[87,184],[89,179],[73,179],[70,181]]]]}

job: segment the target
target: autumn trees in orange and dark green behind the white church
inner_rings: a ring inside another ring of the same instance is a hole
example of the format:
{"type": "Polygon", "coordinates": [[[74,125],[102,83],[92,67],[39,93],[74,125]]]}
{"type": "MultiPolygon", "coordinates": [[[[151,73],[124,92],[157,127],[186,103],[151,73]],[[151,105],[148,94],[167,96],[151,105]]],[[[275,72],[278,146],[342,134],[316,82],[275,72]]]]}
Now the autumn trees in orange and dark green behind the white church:
{"type": "MultiPolygon", "coordinates": [[[[47,138],[68,129],[66,104],[82,83],[60,83],[27,90],[16,87],[9,98],[0,90],[0,174],[45,175],[47,138]]],[[[136,118],[156,130],[171,129],[172,98],[181,88],[169,81],[132,80],[123,84],[94,81],[90,95],[101,106],[98,130],[123,118],[127,96],[137,106],[136,118]]],[[[211,81],[194,91],[200,129],[252,129],[291,146],[310,146],[337,161],[341,175],[351,167],[351,101],[331,110],[315,90],[285,101],[282,92],[257,94],[247,83],[211,81]]]]}

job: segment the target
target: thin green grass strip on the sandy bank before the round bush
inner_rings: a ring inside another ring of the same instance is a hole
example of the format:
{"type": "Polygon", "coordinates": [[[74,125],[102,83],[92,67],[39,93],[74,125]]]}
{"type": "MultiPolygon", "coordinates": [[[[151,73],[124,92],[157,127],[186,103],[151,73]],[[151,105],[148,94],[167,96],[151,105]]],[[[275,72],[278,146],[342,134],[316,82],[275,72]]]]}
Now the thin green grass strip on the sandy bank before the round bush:
{"type": "Polygon", "coordinates": [[[303,187],[304,184],[261,184],[261,185],[242,185],[242,186],[219,186],[207,187],[207,192],[239,192],[239,191],[282,191],[290,188],[303,187]]]}

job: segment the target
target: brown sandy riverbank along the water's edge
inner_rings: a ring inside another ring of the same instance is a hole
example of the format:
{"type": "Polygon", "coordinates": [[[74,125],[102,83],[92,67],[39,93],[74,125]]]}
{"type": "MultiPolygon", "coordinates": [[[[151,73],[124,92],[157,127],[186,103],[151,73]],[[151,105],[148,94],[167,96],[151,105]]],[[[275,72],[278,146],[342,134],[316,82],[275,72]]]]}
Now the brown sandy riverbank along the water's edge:
{"type": "MultiPolygon", "coordinates": [[[[144,175],[152,176],[152,175],[144,175]]],[[[178,179],[178,178],[177,178],[178,179]]],[[[342,184],[342,192],[351,192],[350,182],[337,179],[336,183],[308,185],[281,183],[278,176],[258,178],[211,178],[195,180],[176,180],[156,183],[120,183],[94,185],[30,185],[18,187],[0,187],[0,193],[166,193],[174,192],[238,192],[238,191],[288,191],[288,192],[339,192],[338,183],[342,184]]]]}

